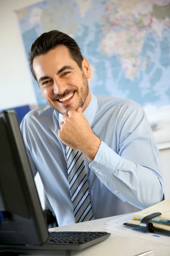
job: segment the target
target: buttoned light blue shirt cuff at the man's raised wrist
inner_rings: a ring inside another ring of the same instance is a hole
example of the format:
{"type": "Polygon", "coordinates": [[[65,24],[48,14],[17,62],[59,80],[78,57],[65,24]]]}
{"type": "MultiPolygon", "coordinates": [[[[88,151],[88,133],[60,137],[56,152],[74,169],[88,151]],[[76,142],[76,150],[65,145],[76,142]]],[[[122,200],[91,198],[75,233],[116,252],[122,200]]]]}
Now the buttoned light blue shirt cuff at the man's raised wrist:
{"type": "Polygon", "coordinates": [[[101,141],[96,156],[89,163],[89,167],[101,180],[105,180],[113,174],[120,160],[121,157],[101,141]]]}

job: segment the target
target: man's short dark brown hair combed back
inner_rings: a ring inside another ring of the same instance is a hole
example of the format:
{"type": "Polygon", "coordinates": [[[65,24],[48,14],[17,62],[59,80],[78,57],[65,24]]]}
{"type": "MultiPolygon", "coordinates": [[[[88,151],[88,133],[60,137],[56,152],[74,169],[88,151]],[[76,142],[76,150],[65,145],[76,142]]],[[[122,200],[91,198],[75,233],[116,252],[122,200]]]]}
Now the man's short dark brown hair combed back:
{"type": "Polygon", "coordinates": [[[68,48],[71,58],[77,62],[77,65],[82,70],[83,56],[76,41],[69,35],[57,30],[51,30],[40,35],[32,44],[31,51],[28,53],[29,67],[34,79],[37,80],[34,69],[34,58],[46,54],[59,45],[64,45],[68,48]]]}

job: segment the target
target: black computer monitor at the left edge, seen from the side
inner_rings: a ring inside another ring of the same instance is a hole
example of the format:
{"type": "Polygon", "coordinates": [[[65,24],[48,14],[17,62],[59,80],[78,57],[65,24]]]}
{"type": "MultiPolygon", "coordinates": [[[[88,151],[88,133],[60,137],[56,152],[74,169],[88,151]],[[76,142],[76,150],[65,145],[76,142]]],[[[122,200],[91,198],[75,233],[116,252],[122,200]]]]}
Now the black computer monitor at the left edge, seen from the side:
{"type": "Polygon", "coordinates": [[[48,239],[16,113],[0,113],[0,247],[48,239]]]}

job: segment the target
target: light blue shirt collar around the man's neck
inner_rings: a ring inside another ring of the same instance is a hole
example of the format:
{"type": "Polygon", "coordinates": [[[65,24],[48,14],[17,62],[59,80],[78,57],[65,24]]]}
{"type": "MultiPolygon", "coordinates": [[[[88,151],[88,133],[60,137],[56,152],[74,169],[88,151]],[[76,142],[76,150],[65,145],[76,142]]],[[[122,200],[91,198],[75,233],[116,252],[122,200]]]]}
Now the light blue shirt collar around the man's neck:
{"type": "MultiPolygon", "coordinates": [[[[97,110],[97,99],[96,96],[94,96],[93,93],[91,93],[91,101],[88,104],[87,108],[85,111],[83,111],[83,115],[85,116],[86,119],[88,119],[89,124],[91,125],[94,117],[96,115],[96,110],[97,110]]],[[[59,124],[62,122],[62,114],[59,113],[59,124]]]]}

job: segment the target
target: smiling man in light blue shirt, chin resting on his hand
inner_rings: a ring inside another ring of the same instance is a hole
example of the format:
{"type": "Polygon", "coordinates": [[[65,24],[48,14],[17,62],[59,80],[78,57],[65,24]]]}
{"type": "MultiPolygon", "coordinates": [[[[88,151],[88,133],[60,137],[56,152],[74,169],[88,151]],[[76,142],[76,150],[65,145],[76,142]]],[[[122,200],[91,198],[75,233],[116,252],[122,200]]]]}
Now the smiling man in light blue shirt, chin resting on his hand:
{"type": "Polygon", "coordinates": [[[21,131],[59,226],[161,201],[159,151],[142,108],[94,96],[88,60],[62,32],[37,38],[29,64],[48,105],[29,112],[21,131]]]}

